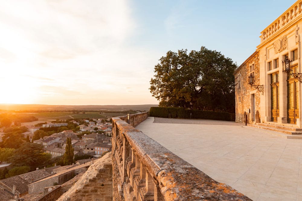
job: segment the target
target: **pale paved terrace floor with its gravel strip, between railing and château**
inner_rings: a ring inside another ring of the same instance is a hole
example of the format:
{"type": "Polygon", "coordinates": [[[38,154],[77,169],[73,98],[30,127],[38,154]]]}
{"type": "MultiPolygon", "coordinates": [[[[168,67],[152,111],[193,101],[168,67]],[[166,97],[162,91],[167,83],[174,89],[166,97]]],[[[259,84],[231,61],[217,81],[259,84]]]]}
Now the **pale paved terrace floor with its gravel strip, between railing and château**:
{"type": "Polygon", "coordinates": [[[148,117],[136,128],[253,200],[302,200],[302,140],[215,120],[148,117]]]}

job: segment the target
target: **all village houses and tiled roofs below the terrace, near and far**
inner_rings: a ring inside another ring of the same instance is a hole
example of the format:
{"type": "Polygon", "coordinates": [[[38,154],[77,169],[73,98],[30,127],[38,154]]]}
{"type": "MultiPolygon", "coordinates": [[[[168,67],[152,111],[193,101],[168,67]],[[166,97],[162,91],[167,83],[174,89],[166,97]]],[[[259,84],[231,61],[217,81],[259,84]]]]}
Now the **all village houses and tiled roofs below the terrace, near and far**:
{"type": "MultiPolygon", "coordinates": [[[[57,187],[62,193],[66,192],[80,178],[79,176],[93,164],[93,160],[100,158],[111,148],[112,124],[108,120],[72,120],[69,121],[69,124],[77,125],[77,129],[63,130],[38,140],[33,140],[37,130],[66,127],[68,123],[46,123],[41,124],[41,126],[25,125],[28,131],[22,133],[22,137],[29,137],[32,143],[42,144],[45,152],[51,154],[53,158],[64,155],[67,138],[71,139],[74,157],[84,155],[90,157],[77,160],[72,165],[60,166],[55,164],[49,168],[37,168],[36,171],[2,179],[0,180],[0,200],[43,200],[43,197],[53,192],[57,187]],[[74,132],[75,130],[78,131],[74,132]]],[[[1,132],[2,139],[5,133],[1,132]]],[[[0,165],[0,168],[3,167],[0,165]]]]}

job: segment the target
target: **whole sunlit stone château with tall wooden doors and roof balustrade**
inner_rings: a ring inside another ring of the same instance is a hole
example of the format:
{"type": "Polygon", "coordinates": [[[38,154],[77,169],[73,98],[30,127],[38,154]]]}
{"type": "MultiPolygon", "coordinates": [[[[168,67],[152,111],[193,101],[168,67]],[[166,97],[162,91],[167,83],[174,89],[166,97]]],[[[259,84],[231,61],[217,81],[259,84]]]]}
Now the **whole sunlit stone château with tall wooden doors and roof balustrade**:
{"type": "Polygon", "coordinates": [[[261,32],[256,51],[234,73],[236,122],[302,127],[301,33],[302,1],[261,32]]]}

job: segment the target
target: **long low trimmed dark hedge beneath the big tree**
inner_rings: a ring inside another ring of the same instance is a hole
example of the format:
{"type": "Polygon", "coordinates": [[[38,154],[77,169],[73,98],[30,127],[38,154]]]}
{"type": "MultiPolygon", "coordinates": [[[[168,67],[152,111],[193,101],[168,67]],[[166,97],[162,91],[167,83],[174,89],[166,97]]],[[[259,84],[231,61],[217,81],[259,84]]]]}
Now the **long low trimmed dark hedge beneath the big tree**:
{"type": "Polygon", "coordinates": [[[184,118],[188,119],[213,119],[224,121],[235,121],[235,114],[228,112],[215,112],[204,110],[189,110],[185,108],[165,108],[165,107],[151,107],[149,111],[150,117],[162,117],[168,118],[171,114],[171,118],[184,118]]]}

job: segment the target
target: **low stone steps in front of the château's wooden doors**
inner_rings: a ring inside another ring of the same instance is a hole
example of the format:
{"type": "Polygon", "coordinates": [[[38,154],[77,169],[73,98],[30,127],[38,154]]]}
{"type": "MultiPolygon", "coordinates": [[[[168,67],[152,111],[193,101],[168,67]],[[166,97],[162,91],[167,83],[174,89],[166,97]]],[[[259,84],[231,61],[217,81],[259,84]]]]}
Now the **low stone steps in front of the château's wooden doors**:
{"type": "Polygon", "coordinates": [[[287,139],[301,139],[302,140],[302,128],[296,127],[294,124],[274,124],[269,123],[256,123],[256,124],[248,124],[248,126],[255,127],[255,128],[261,128],[265,130],[271,130],[274,132],[278,132],[278,136],[284,137],[287,139]]]}

